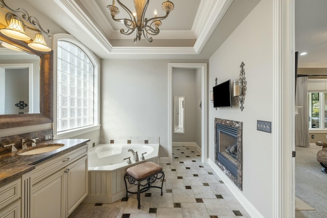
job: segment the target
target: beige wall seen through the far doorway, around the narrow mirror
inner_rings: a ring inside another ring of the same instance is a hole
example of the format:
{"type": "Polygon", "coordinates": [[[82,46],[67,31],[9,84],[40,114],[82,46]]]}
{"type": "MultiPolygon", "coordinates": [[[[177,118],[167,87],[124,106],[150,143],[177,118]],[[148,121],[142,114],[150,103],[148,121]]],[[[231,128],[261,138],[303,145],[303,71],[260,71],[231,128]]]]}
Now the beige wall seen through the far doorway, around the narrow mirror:
{"type": "Polygon", "coordinates": [[[184,133],[173,133],[173,142],[195,142],[195,69],[175,68],[172,95],[184,96],[184,133]]]}

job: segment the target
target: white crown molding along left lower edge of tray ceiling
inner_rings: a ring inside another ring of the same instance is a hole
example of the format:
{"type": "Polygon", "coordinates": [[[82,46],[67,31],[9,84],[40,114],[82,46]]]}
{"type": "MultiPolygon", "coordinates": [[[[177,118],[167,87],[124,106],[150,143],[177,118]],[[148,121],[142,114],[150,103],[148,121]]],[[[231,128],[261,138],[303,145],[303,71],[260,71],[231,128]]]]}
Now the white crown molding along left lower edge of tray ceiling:
{"type": "MultiPolygon", "coordinates": [[[[99,29],[95,26],[94,22],[85,14],[85,12],[79,7],[79,5],[74,0],[58,0],[62,4],[63,10],[68,12],[76,22],[80,23],[82,27],[88,30],[92,37],[95,37],[97,41],[105,47],[105,49],[110,53],[112,50],[112,45],[107,40],[107,38],[102,34],[99,29]]],[[[59,5],[60,6],[60,5],[59,5]]]]}

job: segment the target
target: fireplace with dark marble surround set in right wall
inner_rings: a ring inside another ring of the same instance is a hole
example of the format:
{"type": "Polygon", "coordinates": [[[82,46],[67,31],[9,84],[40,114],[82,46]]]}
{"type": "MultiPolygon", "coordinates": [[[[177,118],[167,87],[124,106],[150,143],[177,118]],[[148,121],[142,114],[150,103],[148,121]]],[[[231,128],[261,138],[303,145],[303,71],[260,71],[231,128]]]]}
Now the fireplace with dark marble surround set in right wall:
{"type": "Polygon", "coordinates": [[[243,123],[215,118],[215,162],[222,171],[242,190],[243,123]]]}

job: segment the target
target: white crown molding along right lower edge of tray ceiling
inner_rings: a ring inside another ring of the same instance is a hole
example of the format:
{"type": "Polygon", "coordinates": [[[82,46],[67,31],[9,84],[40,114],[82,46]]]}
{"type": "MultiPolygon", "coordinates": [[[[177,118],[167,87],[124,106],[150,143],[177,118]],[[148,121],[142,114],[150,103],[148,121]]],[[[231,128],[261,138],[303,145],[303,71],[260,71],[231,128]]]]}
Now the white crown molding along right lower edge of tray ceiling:
{"type": "MultiPolygon", "coordinates": [[[[204,1],[201,1],[201,4],[202,3],[205,4],[204,1]]],[[[206,21],[202,26],[200,34],[198,35],[198,38],[194,44],[194,49],[197,54],[202,51],[203,47],[215,31],[216,27],[218,26],[220,20],[224,16],[231,3],[232,0],[220,0],[215,1],[214,5],[207,4],[205,6],[201,6],[203,7],[204,11],[208,12],[208,15],[206,17],[206,21]]],[[[203,16],[203,14],[201,16],[203,16]]]]}

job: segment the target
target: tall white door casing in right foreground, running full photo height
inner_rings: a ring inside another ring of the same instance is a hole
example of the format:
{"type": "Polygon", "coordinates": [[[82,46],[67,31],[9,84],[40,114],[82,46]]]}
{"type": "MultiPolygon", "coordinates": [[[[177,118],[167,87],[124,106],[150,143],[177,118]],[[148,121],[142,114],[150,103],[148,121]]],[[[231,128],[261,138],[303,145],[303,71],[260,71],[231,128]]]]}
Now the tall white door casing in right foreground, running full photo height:
{"type": "Polygon", "coordinates": [[[294,0],[273,1],[272,217],[295,217],[294,0]]]}

